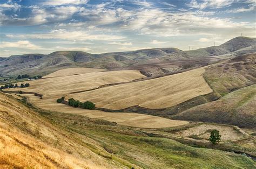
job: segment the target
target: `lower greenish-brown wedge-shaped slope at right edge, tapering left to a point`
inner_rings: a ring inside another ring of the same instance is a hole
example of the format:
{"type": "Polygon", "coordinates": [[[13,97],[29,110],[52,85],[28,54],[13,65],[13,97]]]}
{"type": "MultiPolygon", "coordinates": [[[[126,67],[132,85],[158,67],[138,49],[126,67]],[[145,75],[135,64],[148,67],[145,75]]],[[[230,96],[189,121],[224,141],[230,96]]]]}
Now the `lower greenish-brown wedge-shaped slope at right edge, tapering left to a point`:
{"type": "Polygon", "coordinates": [[[219,100],[197,105],[173,119],[214,122],[256,129],[256,85],[226,94],[219,100]]]}

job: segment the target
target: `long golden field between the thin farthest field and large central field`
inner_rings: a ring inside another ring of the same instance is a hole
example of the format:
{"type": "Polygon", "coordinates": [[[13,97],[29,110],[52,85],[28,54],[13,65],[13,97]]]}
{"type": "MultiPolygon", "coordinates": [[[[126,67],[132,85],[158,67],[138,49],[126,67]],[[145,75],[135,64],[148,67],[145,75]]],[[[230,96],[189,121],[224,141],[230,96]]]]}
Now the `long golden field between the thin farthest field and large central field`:
{"type": "MultiPolygon", "coordinates": [[[[26,81],[23,83],[30,83],[30,87],[22,88],[22,91],[32,91],[44,96],[58,98],[75,91],[93,89],[109,83],[129,82],[140,78],[145,78],[145,76],[139,71],[92,72],[26,81]]],[[[21,88],[6,90],[21,90],[21,88]]]]}

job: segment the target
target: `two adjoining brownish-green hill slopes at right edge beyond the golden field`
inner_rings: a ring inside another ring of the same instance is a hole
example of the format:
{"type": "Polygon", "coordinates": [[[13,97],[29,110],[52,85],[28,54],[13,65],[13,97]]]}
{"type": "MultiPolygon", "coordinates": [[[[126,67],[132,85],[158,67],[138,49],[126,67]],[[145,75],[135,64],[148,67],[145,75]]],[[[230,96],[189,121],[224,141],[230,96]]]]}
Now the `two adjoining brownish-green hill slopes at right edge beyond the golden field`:
{"type": "Polygon", "coordinates": [[[255,59],[256,53],[251,53],[209,66],[204,78],[215,92],[224,97],[197,105],[172,118],[256,128],[255,59]]]}

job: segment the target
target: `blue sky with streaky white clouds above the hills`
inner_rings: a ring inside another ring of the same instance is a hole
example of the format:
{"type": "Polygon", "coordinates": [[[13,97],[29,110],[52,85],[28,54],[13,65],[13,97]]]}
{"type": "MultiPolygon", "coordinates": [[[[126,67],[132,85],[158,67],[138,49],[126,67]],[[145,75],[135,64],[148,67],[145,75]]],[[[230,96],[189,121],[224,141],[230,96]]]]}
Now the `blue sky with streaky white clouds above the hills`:
{"type": "Polygon", "coordinates": [[[1,0],[0,57],[180,50],[256,37],[254,0],[1,0]]]}

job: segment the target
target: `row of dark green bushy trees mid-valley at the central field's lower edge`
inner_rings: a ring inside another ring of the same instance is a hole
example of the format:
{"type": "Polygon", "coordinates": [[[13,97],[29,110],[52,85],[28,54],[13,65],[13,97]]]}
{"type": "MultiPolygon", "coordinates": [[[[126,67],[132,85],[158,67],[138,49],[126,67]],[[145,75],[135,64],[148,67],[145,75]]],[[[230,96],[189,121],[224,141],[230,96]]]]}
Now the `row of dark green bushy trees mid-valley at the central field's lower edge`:
{"type": "MultiPolygon", "coordinates": [[[[61,97],[57,99],[57,103],[63,103],[65,97],[61,97]]],[[[79,102],[78,100],[75,100],[73,98],[69,99],[69,105],[75,108],[83,108],[83,109],[95,109],[95,104],[86,101],[86,102],[79,102]]]]}

